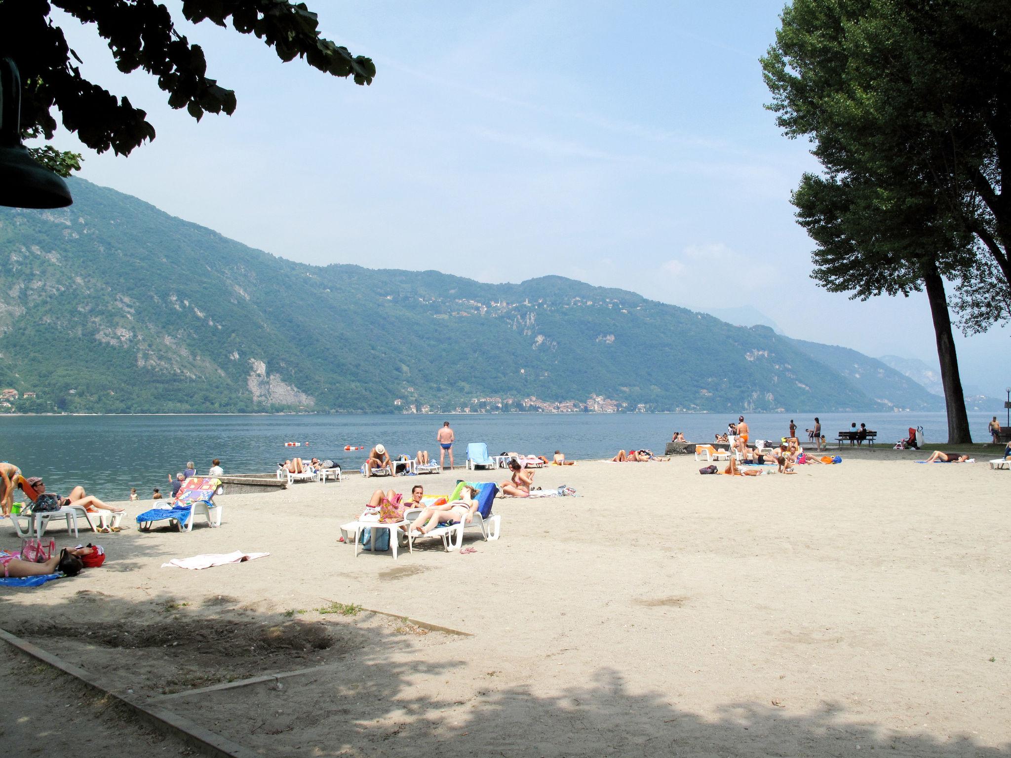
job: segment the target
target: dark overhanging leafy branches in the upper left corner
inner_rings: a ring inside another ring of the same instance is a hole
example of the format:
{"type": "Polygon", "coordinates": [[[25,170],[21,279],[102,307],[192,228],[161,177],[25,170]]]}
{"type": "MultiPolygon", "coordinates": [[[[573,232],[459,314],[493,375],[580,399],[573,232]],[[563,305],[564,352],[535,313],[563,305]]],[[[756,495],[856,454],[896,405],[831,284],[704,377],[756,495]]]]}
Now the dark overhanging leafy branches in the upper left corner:
{"type": "MultiPolygon", "coordinates": [[[[143,70],[158,78],[173,108],[186,108],[198,121],[204,113],[236,109],[236,93],[207,76],[203,50],[190,44],[175,27],[168,9],[155,0],[0,0],[0,50],[21,72],[21,127],[37,129],[52,139],[57,127],[53,109],[64,126],[97,153],[129,153],[155,138],[148,114],[126,97],[117,97],[86,80],[63,30],[51,19],[56,6],[85,24],[95,24],[108,40],[116,67],[123,73],[143,70]]],[[[303,58],[309,66],[356,84],[371,84],[372,61],[352,56],[319,36],[316,14],[288,0],[183,0],[183,16],[209,20],[237,31],[256,34],[288,62],[303,58]]],[[[38,154],[36,154],[37,157],[38,154]]],[[[65,166],[66,167],[66,166],[65,166]]]]}

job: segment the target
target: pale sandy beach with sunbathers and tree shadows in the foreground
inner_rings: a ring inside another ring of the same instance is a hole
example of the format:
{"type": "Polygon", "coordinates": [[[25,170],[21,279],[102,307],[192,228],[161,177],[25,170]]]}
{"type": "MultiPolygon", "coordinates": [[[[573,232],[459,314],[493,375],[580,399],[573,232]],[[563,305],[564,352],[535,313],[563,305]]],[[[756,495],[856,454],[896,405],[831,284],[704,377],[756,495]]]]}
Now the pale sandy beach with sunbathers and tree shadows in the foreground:
{"type": "Polygon", "coordinates": [[[1011,472],[842,455],[550,467],[536,484],[580,496],[496,500],[500,540],[396,561],[339,525],[377,484],[462,472],[225,495],[219,530],[88,535],[106,566],[3,590],[3,627],[152,699],[312,669],[164,702],[263,755],[1006,755],[1011,472]],[[161,568],[234,550],[271,555],[161,568]],[[315,610],[335,601],[470,636],[315,610]]]}

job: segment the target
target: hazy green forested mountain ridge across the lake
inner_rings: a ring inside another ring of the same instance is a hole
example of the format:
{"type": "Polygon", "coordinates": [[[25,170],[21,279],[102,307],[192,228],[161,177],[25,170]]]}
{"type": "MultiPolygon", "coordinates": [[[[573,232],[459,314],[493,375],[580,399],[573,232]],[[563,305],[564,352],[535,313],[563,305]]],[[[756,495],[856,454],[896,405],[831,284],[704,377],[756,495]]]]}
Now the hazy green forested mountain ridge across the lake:
{"type": "Polygon", "coordinates": [[[307,266],[71,190],[0,209],[0,410],[943,409],[855,351],[632,292],[307,266]]]}

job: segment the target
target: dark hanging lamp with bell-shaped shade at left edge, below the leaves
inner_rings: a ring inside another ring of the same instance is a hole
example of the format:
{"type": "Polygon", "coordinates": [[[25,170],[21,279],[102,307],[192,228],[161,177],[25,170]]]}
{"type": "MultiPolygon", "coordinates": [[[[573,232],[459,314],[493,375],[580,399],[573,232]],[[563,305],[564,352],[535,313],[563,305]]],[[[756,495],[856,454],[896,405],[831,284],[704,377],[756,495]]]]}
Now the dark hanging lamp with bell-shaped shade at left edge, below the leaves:
{"type": "Polygon", "coordinates": [[[40,166],[21,145],[21,76],[9,58],[0,60],[0,205],[63,208],[74,202],[67,183],[40,166]]]}

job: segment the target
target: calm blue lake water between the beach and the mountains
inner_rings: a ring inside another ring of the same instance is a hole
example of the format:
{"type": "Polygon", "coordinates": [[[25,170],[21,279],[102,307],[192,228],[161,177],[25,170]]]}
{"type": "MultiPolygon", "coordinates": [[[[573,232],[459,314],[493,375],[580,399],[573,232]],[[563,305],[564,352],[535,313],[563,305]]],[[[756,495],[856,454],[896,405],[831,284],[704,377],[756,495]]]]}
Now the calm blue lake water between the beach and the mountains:
{"type": "MultiPolygon", "coordinates": [[[[909,427],[922,425],[928,445],[947,439],[943,413],[821,413],[829,439],[861,421],[893,444],[909,427]]],[[[969,414],[976,442],[988,442],[992,414],[969,414]]],[[[791,417],[798,435],[814,427],[813,414],[749,413],[751,439],[787,434],[791,417]]],[[[391,455],[413,457],[419,449],[438,458],[435,435],[443,420],[456,432],[457,465],[469,442],[487,443],[492,455],[504,451],[551,456],[562,450],[571,459],[610,458],[619,449],[649,448],[663,452],[673,432],[693,442],[711,442],[726,432],[730,415],[716,413],[500,413],[469,415],[128,415],[128,416],[0,416],[0,460],[21,467],[25,476],[41,476],[52,492],[66,494],[75,484],[103,499],[123,500],[136,487],[142,498],[153,487],[165,492],[168,474],[195,461],[204,472],[213,458],[227,474],[273,471],[279,461],[332,458],[345,469],[357,469],[364,452],[345,452],[345,445],[383,443],[391,455]],[[285,442],[300,442],[286,448],[285,442]],[[308,443],[308,447],[304,444],[308,443]]],[[[17,499],[17,498],[15,498],[17,499]]]]}

